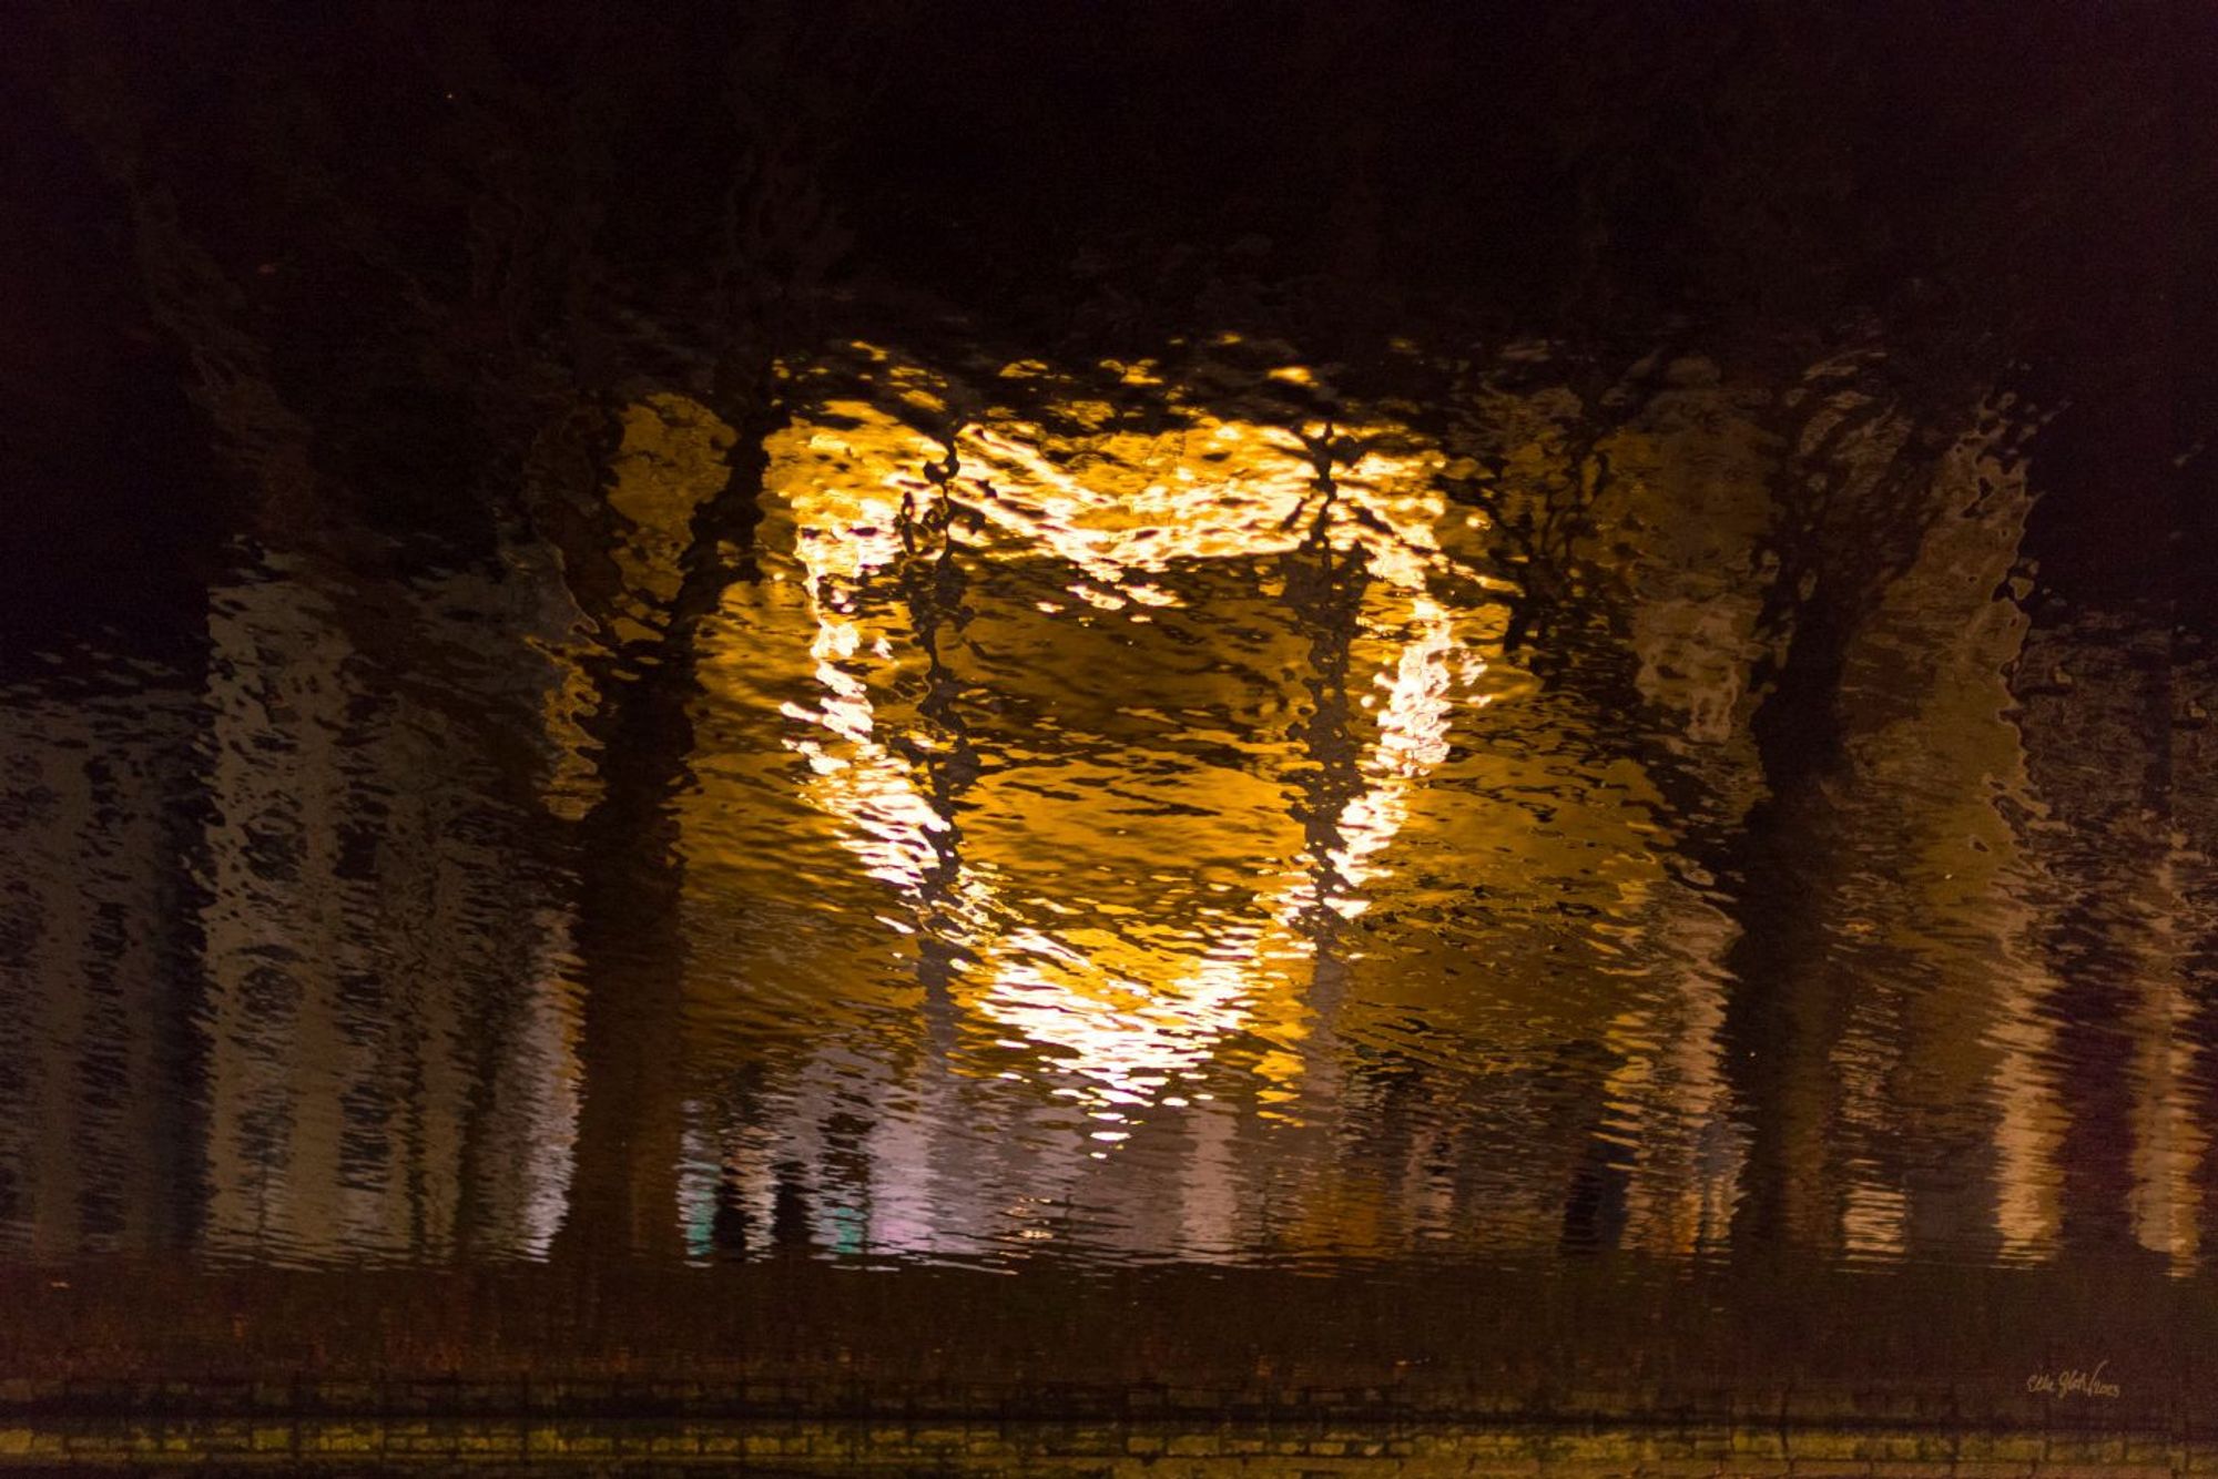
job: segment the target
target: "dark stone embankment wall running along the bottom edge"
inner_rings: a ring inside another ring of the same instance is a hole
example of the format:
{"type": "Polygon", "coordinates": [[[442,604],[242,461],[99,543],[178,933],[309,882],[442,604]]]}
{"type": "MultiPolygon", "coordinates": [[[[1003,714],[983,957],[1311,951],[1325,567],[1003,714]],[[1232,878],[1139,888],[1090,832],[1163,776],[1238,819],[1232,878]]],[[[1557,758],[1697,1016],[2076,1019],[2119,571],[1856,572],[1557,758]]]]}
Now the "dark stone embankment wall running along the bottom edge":
{"type": "Polygon", "coordinates": [[[0,1271],[0,1470],[2218,1472],[2200,1279],[0,1271]]]}

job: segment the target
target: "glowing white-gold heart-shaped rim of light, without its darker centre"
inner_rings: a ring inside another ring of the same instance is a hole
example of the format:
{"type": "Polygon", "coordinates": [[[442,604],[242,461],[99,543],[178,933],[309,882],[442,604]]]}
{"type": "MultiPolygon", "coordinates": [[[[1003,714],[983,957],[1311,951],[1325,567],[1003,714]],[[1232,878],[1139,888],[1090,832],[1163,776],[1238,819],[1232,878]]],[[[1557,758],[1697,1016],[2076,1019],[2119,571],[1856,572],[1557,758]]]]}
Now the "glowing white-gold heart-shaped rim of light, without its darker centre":
{"type": "MultiPolygon", "coordinates": [[[[907,900],[916,918],[901,934],[936,934],[963,958],[960,1007],[991,1040],[1085,1087],[1089,1153],[1107,1155],[1131,1135],[1125,1111],[1184,1104],[1178,1082],[1251,1027],[1266,998],[1293,1020],[1269,1036],[1300,1036],[1300,982],[1315,951],[1306,920],[1320,905],[1346,918],[1364,909],[1362,889],[1384,874],[1413,787],[1448,756],[1453,710],[1484,659],[1468,619],[1433,594],[1442,579],[1473,577],[1439,548],[1448,510],[1426,477],[1431,461],[1364,450],[1393,428],[1335,432],[1324,543],[1353,552],[1371,583],[1357,636],[1377,656],[1362,667],[1375,670],[1375,696],[1353,721],[1375,734],[1360,747],[1357,789],[1329,818],[1326,856],[1264,856],[1262,845],[1249,898],[1184,902],[1178,918],[1118,918],[1111,929],[1069,918],[1082,914],[1071,900],[1031,894],[991,856],[952,843],[932,765],[954,741],[889,698],[923,667],[903,568],[932,557],[934,519],[954,512],[969,526],[956,557],[967,565],[1067,570],[1056,585],[1076,605],[1027,599],[1038,614],[1025,621],[1144,621],[1142,608],[1189,605],[1189,574],[1211,565],[1251,568],[1260,588],[1273,559],[1311,541],[1322,503],[1313,443],[1196,415],[1182,435],[1102,435],[1074,457],[1038,428],[1000,421],[958,432],[958,472],[940,486],[925,468],[949,448],[878,406],[836,401],[823,419],[836,430],[796,428],[772,446],[767,512],[790,521],[816,623],[814,703],[781,707],[783,745],[807,763],[805,798],[834,818],[841,845],[907,900]]],[[[1298,1055],[1273,1051],[1262,1071],[1298,1073],[1298,1055]]]]}

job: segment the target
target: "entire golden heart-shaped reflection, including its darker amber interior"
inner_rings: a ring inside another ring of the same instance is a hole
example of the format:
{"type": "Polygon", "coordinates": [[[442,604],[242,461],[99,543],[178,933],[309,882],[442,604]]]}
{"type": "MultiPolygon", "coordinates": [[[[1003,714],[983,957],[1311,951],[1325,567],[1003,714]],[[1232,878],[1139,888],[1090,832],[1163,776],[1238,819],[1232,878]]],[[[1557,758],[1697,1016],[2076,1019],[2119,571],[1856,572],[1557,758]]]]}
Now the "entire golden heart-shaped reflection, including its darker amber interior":
{"type": "MultiPolygon", "coordinates": [[[[918,384],[907,399],[947,401],[918,384]]],[[[1142,435],[1082,401],[1058,410],[1093,430],[996,415],[949,441],[830,399],[770,448],[763,543],[810,625],[812,681],[776,701],[801,796],[898,896],[878,918],[952,951],[983,1036],[1085,1087],[1102,1155],[1129,1135],[1122,1109],[1178,1098],[1242,1033],[1262,1042],[1269,1098],[1286,1095],[1302,1062],[1289,1049],[1313,1027],[1313,916],[1362,914],[1391,867],[1408,792],[1448,756],[1499,628],[1468,590],[1499,583],[1444,550],[1442,528],[1468,519],[1448,517],[1437,457],[1402,428],[1191,412],[1142,435]],[[1355,758],[1306,832],[1278,763],[1317,705],[1289,561],[1364,585],[1349,676],[1362,692],[1335,716],[1355,758]],[[1455,605],[1435,594],[1446,581],[1466,592],[1455,605]],[[1278,628],[1258,639],[1266,663],[1156,667],[1213,619],[1278,628]],[[1149,630],[1164,621],[1180,625],[1149,630]],[[1049,647],[1056,661],[1022,661],[1049,647]],[[1120,663],[1140,665],[1136,683],[1085,692],[1085,674],[1120,663]],[[1027,692],[1069,674],[1080,692],[1027,692]],[[1051,763],[998,707],[1069,730],[1051,763]],[[1278,743],[1231,738],[1255,732],[1278,743]],[[1218,754],[1191,754],[1211,734],[1227,736],[1218,754]]],[[[779,596],[750,599],[734,610],[761,661],[792,639],[763,625],[779,596]]]]}

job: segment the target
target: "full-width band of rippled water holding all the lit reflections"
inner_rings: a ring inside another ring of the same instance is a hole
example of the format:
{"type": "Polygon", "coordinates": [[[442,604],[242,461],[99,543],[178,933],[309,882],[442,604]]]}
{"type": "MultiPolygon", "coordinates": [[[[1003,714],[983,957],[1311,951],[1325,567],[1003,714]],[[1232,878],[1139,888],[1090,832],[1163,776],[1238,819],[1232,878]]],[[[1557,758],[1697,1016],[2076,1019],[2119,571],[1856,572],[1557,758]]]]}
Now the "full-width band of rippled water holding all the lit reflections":
{"type": "Polygon", "coordinates": [[[7,1246],[2196,1266],[2218,681],[2041,614],[2032,419],[1402,359],[841,344],[51,652],[7,1246]]]}

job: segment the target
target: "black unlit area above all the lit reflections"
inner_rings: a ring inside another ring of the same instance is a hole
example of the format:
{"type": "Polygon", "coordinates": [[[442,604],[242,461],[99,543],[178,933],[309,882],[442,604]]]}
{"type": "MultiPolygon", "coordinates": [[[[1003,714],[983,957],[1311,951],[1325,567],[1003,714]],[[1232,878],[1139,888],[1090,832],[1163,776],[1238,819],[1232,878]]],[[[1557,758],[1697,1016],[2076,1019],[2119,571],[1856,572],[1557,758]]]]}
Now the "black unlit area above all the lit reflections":
{"type": "Polygon", "coordinates": [[[2218,570],[2183,461],[2218,406],[2218,11],[2189,0],[109,0],[24,7],[18,42],[11,647],[89,585],[189,583],[228,517],[149,202],[308,421],[446,428],[324,437],[395,523],[481,481],[468,386],[566,304],[739,262],[743,295],[892,284],[1027,344],[1229,297],[1357,361],[1413,328],[1879,324],[1905,366],[2069,404],[2036,452],[2056,581],[2218,570]]]}

